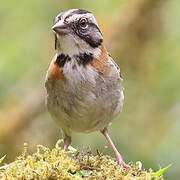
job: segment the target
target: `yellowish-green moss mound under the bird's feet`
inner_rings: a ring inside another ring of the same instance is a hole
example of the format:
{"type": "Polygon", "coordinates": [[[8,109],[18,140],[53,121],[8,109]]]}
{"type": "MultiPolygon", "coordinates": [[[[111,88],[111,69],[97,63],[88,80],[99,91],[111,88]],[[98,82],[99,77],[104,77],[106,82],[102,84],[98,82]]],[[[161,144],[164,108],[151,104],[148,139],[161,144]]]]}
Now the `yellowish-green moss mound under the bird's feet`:
{"type": "Polygon", "coordinates": [[[21,156],[13,163],[0,167],[2,180],[150,180],[163,179],[162,174],[155,176],[151,171],[141,169],[141,163],[130,163],[131,169],[122,169],[113,158],[106,155],[93,155],[91,151],[64,152],[62,141],[50,150],[42,145],[37,152],[29,155],[27,144],[21,156]]]}

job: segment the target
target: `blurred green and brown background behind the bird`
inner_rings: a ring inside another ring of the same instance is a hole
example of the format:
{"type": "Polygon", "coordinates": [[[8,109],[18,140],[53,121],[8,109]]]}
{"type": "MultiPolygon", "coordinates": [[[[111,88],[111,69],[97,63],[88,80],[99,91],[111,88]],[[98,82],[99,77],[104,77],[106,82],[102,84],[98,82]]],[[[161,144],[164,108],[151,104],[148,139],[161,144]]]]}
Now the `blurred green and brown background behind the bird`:
{"type": "MultiPolygon", "coordinates": [[[[123,112],[110,134],[126,162],[173,164],[180,177],[180,1],[24,0],[0,6],[0,157],[11,162],[29,144],[53,147],[59,128],[44,105],[44,79],[55,54],[54,17],[69,8],[94,13],[124,78],[123,112]]],[[[113,155],[99,133],[74,134],[74,147],[113,155]]]]}

